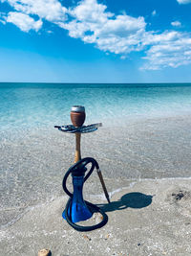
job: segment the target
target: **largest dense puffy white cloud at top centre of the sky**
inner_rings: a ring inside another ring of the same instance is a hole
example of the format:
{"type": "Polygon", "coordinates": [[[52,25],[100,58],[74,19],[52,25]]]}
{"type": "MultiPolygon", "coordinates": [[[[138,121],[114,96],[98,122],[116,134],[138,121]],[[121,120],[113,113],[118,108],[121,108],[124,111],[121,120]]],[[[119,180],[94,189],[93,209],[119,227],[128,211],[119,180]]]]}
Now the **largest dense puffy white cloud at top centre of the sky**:
{"type": "Polygon", "coordinates": [[[84,0],[70,10],[74,20],[58,25],[68,30],[72,37],[95,43],[98,49],[105,52],[124,55],[137,51],[146,26],[144,18],[127,14],[115,16],[106,9],[96,0],[84,0]]]}

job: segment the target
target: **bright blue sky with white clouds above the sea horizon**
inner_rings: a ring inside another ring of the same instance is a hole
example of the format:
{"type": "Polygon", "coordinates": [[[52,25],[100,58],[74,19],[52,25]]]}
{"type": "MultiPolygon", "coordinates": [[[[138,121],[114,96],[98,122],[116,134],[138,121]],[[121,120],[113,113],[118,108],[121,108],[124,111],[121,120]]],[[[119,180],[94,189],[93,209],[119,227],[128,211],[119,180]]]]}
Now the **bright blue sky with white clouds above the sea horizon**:
{"type": "Polygon", "coordinates": [[[189,82],[191,0],[0,0],[0,81],[189,82]]]}

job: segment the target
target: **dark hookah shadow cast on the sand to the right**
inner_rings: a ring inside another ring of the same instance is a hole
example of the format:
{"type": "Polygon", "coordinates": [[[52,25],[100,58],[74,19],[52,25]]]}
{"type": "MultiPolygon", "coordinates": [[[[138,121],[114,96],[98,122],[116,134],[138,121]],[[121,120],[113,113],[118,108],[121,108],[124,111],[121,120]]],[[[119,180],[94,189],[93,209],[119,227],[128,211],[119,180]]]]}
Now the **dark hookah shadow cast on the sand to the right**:
{"type": "Polygon", "coordinates": [[[139,192],[133,192],[123,195],[117,201],[110,203],[97,204],[104,212],[113,212],[130,208],[144,208],[152,203],[153,196],[145,195],[139,192]]]}

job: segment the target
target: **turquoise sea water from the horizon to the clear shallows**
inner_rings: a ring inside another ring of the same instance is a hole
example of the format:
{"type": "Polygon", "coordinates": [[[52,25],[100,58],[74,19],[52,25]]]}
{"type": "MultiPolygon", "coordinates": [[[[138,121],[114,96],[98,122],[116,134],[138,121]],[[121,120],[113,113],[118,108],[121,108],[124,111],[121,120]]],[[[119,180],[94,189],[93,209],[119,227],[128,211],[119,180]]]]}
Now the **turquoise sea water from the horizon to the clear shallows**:
{"type": "Polygon", "coordinates": [[[70,124],[72,105],[86,107],[86,124],[106,126],[186,115],[191,112],[191,83],[0,83],[0,129],[70,124]]]}

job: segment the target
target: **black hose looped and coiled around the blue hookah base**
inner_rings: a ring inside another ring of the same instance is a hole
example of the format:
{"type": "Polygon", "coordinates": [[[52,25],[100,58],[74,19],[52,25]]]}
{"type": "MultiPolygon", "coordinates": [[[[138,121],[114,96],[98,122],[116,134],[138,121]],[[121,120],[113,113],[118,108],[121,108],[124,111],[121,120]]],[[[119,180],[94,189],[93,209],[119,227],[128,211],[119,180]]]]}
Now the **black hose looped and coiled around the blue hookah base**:
{"type": "MultiPolygon", "coordinates": [[[[96,206],[95,204],[84,200],[84,202],[86,203],[86,205],[88,206],[89,210],[94,213],[94,212],[99,212],[102,215],[102,221],[100,221],[99,223],[97,223],[96,225],[92,225],[92,226],[81,226],[81,225],[77,225],[72,221],[71,216],[69,215],[69,209],[72,209],[72,202],[73,202],[73,194],[67,189],[66,187],[66,182],[67,182],[67,178],[70,174],[72,175],[77,175],[77,176],[81,176],[84,175],[84,173],[87,171],[87,169],[85,168],[86,165],[88,165],[89,163],[92,164],[90,171],[88,172],[87,175],[84,176],[84,182],[89,178],[90,175],[92,175],[95,167],[97,170],[97,173],[99,171],[99,167],[98,167],[98,163],[96,162],[96,160],[92,157],[86,157],[83,158],[81,160],[79,160],[78,162],[76,162],[73,166],[71,166],[69,168],[69,170],[67,171],[67,173],[64,175],[63,181],[62,181],[62,187],[63,190],[65,191],[65,193],[70,197],[67,204],[66,204],[66,209],[65,209],[65,217],[66,217],[66,221],[72,226],[74,227],[75,230],[77,231],[91,231],[91,230],[95,230],[96,228],[100,228],[103,225],[105,225],[108,221],[108,216],[106,215],[106,213],[101,210],[98,206],[96,206]]],[[[110,202],[109,198],[107,198],[108,201],[110,202]]]]}

